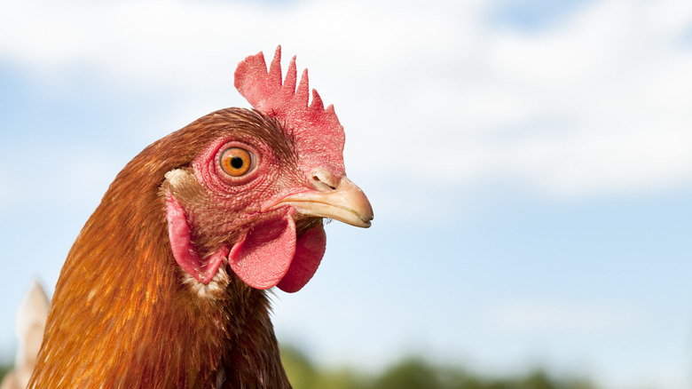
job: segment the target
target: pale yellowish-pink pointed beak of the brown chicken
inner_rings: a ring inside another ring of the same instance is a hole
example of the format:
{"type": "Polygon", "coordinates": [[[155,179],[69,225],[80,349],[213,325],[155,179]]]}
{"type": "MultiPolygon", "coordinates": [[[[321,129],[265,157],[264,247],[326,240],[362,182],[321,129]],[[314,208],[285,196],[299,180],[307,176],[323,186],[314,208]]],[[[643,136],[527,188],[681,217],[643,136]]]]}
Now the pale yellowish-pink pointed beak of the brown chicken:
{"type": "Polygon", "coordinates": [[[289,194],[275,204],[288,204],[305,216],[333,218],[363,228],[369,227],[374,217],[366,194],[346,176],[336,188],[289,194]]]}

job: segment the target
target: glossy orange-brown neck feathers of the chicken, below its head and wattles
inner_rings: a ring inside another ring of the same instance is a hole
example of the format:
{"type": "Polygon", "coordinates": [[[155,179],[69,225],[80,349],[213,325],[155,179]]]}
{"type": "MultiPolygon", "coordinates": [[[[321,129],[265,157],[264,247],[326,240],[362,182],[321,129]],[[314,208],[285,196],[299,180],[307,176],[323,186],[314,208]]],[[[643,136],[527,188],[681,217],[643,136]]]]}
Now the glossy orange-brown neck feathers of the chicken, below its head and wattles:
{"type": "Polygon", "coordinates": [[[185,282],[159,194],[174,166],[147,163],[166,140],[125,167],[77,237],[28,387],[290,387],[264,292],[231,272],[206,292],[185,282]]]}

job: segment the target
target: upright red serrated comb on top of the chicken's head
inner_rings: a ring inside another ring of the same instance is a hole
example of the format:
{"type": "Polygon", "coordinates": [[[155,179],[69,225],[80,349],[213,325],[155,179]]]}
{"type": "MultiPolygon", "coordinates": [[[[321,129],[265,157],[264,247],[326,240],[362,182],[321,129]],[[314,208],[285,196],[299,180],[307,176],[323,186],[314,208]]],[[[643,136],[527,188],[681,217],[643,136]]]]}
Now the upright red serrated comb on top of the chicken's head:
{"type": "Polygon", "coordinates": [[[310,174],[315,168],[328,169],[335,178],[343,171],[343,127],[336,117],[334,106],[324,107],[318,92],[310,87],[308,69],[303,70],[301,82],[295,89],[295,57],[288,65],[286,80],[281,83],[281,46],[267,71],[262,52],[251,55],[235,70],[235,87],[256,110],[279,119],[285,131],[295,138],[301,165],[310,174]]]}

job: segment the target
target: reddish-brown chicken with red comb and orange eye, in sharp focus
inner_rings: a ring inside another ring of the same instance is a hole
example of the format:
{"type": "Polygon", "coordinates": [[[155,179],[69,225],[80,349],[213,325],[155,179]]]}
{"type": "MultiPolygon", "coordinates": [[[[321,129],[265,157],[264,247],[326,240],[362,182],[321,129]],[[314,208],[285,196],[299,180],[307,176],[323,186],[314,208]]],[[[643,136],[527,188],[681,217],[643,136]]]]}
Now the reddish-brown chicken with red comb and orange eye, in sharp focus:
{"type": "Polygon", "coordinates": [[[265,290],[295,292],[324,218],[367,227],[344,134],[280,46],[240,62],[253,110],[154,142],[117,175],[67,255],[28,387],[284,388],[265,290]]]}

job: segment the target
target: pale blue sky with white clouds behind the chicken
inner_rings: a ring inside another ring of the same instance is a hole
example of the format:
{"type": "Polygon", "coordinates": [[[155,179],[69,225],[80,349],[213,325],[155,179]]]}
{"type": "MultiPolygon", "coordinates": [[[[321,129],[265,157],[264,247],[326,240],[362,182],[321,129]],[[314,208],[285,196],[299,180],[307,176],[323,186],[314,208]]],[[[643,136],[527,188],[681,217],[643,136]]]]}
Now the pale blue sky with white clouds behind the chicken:
{"type": "MultiPolygon", "coordinates": [[[[326,228],[279,341],[489,375],[692,385],[692,3],[0,4],[0,356],[120,169],[281,44],[346,131],[374,224],[326,228]]],[[[107,276],[107,274],[106,274],[107,276]]]]}

